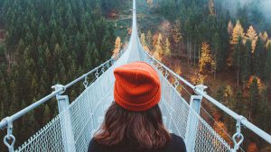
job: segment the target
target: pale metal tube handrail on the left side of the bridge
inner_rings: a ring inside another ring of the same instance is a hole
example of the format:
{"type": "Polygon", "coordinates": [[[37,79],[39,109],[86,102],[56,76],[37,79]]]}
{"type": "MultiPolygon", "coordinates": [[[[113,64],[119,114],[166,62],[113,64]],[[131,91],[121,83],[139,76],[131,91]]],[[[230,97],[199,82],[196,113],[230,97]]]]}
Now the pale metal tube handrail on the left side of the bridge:
{"type": "MultiPolygon", "coordinates": [[[[121,52],[117,55],[118,57],[120,56],[121,52]]],[[[26,108],[24,108],[23,110],[14,113],[12,116],[10,117],[5,117],[5,119],[3,119],[2,121],[0,121],[0,130],[4,130],[7,125],[8,125],[8,121],[16,121],[19,118],[21,118],[24,114],[33,111],[33,109],[37,108],[38,106],[40,106],[42,103],[46,103],[47,101],[49,101],[51,98],[53,98],[55,95],[57,94],[61,94],[62,92],[64,92],[66,89],[70,88],[70,86],[77,84],[79,81],[85,79],[85,77],[89,76],[90,74],[96,72],[98,70],[98,68],[100,67],[104,67],[105,65],[107,65],[108,63],[110,63],[111,61],[114,61],[114,58],[110,58],[108,59],[105,63],[101,64],[100,66],[92,69],[91,71],[89,71],[88,73],[84,74],[83,76],[79,76],[77,79],[73,80],[72,82],[70,82],[67,85],[64,85],[62,88],[59,88],[55,91],[53,91],[51,94],[48,94],[47,96],[43,97],[41,100],[37,101],[36,103],[33,103],[29,106],[27,106],[26,108]],[[8,118],[8,119],[7,119],[8,118]],[[7,121],[8,120],[8,121],[7,121]]]]}

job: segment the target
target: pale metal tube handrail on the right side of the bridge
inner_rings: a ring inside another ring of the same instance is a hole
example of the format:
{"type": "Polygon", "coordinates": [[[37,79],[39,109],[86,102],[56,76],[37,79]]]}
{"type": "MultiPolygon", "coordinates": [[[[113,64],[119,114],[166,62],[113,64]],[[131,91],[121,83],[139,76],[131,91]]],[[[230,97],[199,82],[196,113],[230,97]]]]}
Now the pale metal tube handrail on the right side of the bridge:
{"type": "Polygon", "coordinates": [[[187,80],[185,80],[184,78],[182,78],[182,76],[179,76],[177,74],[175,74],[173,72],[173,70],[171,70],[170,68],[164,66],[163,63],[161,63],[160,61],[158,61],[157,59],[155,59],[154,57],[152,57],[150,54],[148,54],[146,51],[145,53],[152,58],[155,62],[157,62],[160,66],[164,67],[165,70],[167,70],[168,72],[170,72],[173,76],[175,76],[176,78],[180,79],[182,81],[182,83],[184,83],[185,85],[188,85],[189,87],[192,88],[192,90],[195,91],[195,93],[197,94],[201,94],[204,98],[206,98],[208,101],[210,101],[210,103],[213,103],[214,105],[216,105],[218,108],[220,108],[220,110],[222,110],[223,112],[228,113],[232,118],[234,118],[236,121],[240,121],[245,127],[247,127],[249,130],[253,131],[254,133],[256,133],[259,137],[261,137],[262,139],[265,139],[267,143],[271,144],[271,135],[269,135],[268,133],[266,133],[266,131],[259,129],[256,125],[254,125],[253,123],[251,123],[250,121],[248,121],[247,119],[241,119],[240,118],[244,118],[243,116],[239,115],[236,112],[231,111],[228,107],[226,107],[225,105],[221,104],[220,102],[218,102],[217,100],[215,100],[214,98],[212,98],[210,95],[206,94],[204,91],[202,91],[200,88],[198,88],[195,85],[192,85],[190,82],[188,82],[187,80]]]}

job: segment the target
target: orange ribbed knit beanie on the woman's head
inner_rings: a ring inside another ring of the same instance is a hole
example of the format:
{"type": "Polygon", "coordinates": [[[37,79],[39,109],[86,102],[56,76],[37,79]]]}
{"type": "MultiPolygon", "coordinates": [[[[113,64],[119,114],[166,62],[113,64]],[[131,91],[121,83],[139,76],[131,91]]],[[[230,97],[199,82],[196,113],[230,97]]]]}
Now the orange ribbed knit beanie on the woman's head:
{"type": "Polygon", "coordinates": [[[142,112],[152,108],[161,99],[159,76],[145,62],[134,62],[114,71],[115,102],[128,111],[142,112]]]}

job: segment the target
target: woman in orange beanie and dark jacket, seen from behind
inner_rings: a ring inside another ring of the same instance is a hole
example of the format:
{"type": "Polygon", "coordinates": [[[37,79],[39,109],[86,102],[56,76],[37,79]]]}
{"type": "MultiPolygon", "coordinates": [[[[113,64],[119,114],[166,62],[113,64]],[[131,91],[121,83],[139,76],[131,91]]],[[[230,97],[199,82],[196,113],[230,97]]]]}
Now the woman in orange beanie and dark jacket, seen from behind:
{"type": "Polygon", "coordinates": [[[185,152],[182,138],[164,127],[158,106],[159,76],[145,62],[114,71],[114,99],[105,121],[89,143],[89,152],[185,152]]]}

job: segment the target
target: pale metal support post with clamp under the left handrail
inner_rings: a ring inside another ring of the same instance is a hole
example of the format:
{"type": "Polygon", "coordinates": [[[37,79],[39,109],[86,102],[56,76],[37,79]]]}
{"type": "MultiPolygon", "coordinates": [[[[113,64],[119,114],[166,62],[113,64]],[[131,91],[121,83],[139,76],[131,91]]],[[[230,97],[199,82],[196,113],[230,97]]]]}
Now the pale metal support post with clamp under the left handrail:
{"type": "MultiPolygon", "coordinates": [[[[54,88],[55,90],[58,90],[64,87],[62,85],[55,85],[54,88]]],[[[76,151],[76,148],[70,119],[69,97],[68,95],[57,94],[56,98],[58,100],[58,108],[61,119],[61,135],[64,151],[74,152],[76,151]]]]}

